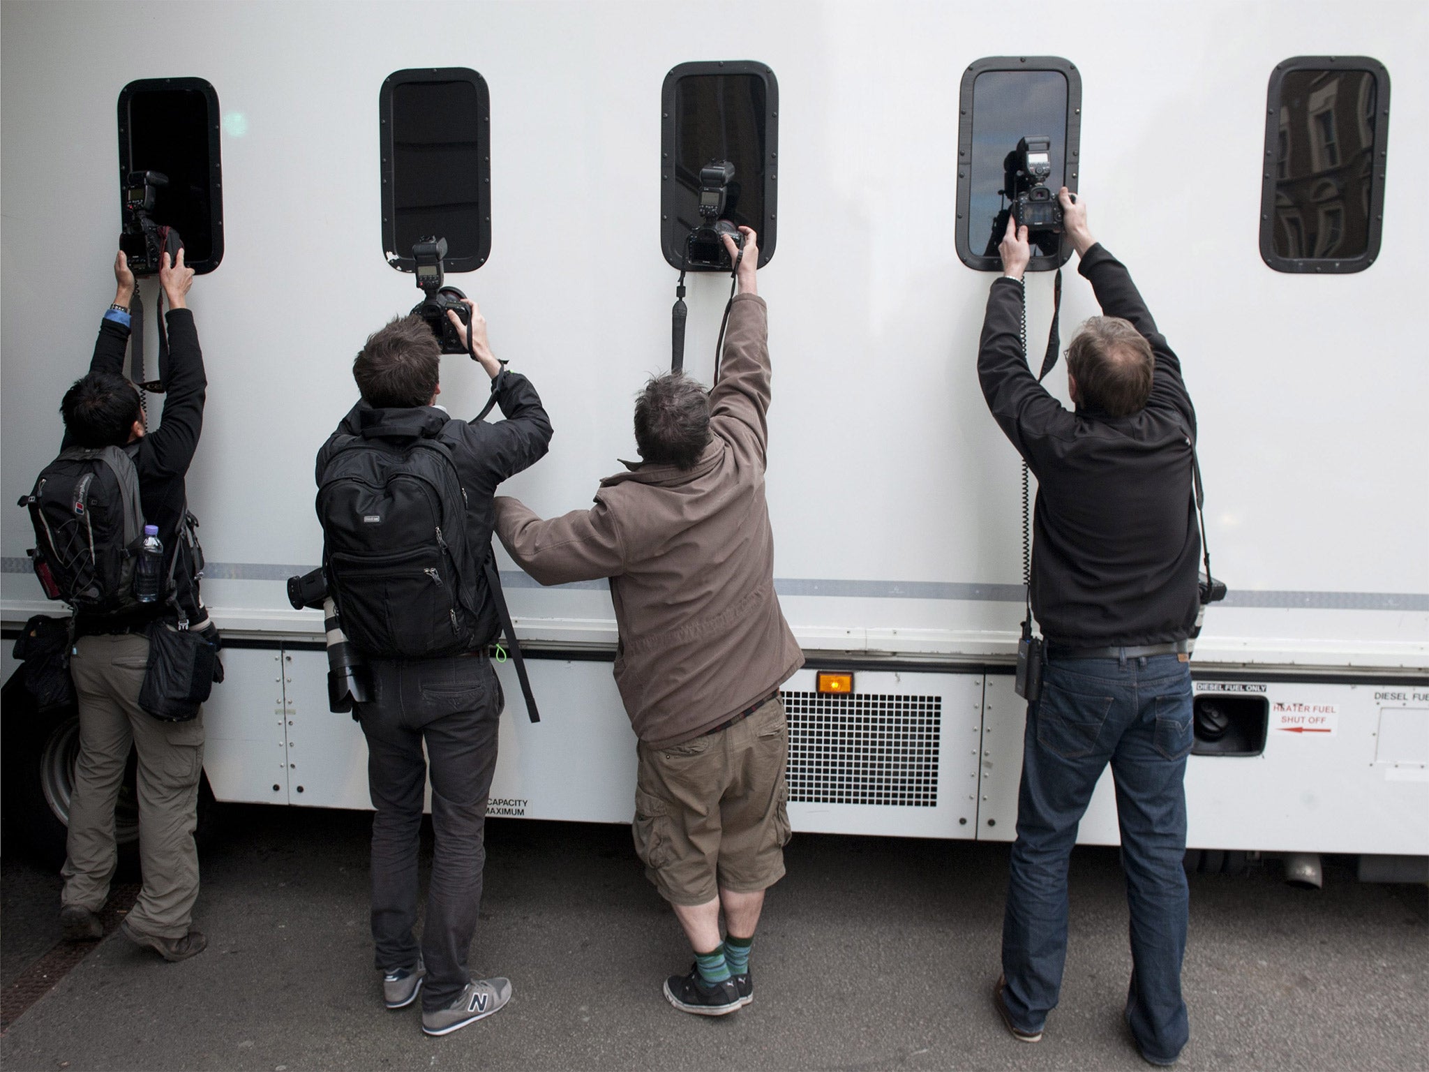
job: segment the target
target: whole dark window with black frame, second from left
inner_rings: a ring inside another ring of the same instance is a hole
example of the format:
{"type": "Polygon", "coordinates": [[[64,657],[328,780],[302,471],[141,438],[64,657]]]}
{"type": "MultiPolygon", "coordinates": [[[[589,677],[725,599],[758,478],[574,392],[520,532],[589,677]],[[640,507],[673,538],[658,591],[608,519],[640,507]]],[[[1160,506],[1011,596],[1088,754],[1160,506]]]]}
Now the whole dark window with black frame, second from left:
{"type": "Polygon", "coordinates": [[[383,83],[383,246],[410,270],[412,246],[447,240],[447,269],[490,253],[486,83],[467,69],[397,71],[383,83]]]}

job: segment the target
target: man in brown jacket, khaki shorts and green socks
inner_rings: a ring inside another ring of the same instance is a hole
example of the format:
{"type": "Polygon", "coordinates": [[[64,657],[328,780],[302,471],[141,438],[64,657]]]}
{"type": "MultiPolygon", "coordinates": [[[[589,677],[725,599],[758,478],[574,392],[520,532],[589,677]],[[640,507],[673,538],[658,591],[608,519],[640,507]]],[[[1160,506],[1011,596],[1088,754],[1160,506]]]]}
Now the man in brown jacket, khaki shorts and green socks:
{"type": "Polygon", "coordinates": [[[652,379],[634,407],[642,462],[602,480],[593,509],[542,520],[496,499],[496,532],[536,580],[610,577],[616,685],[640,738],[634,846],[694,949],[664,996],[704,1016],[755,998],[749,951],[789,840],[779,686],[803,665],[775,595],[769,324],[757,239],[740,230],[742,257],[725,239],[740,293],[713,390],[652,379]]]}

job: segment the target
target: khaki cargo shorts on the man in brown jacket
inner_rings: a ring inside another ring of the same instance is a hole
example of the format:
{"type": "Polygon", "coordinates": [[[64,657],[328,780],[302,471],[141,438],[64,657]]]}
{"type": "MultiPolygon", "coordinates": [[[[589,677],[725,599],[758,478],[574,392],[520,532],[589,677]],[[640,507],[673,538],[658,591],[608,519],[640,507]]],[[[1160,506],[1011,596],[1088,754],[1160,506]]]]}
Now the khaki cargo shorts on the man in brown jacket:
{"type": "Polygon", "coordinates": [[[776,696],[719,733],[652,749],[640,742],[634,850],[672,905],[707,905],[725,888],[767,889],[785,876],[789,726],[776,696]]]}

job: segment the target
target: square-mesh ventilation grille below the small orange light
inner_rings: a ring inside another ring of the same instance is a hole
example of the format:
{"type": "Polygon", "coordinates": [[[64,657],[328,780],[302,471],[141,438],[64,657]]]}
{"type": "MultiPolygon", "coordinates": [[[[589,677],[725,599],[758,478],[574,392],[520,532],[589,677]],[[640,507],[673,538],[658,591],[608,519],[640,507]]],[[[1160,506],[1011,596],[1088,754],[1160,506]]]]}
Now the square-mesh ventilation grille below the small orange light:
{"type": "Polygon", "coordinates": [[[783,692],[789,799],[937,806],[943,698],[783,692]]]}

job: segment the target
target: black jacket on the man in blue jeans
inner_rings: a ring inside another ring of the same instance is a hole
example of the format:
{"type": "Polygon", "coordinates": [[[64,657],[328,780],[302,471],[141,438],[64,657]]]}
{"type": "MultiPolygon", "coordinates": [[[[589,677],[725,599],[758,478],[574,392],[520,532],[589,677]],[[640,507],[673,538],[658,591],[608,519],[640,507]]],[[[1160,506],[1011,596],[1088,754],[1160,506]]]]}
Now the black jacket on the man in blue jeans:
{"type": "Polygon", "coordinates": [[[1200,535],[1192,503],[1196,413],[1180,362],[1126,267],[1100,244],[1083,276],[1107,316],[1130,320],[1156,370],[1145,409],[1069,413],[1027,369],[1017,337],[1022,287],[987,296],[977,376],[993,417],[1037,477],[1032,609],[1043,636],[1100,647],[1182,640],[1198,610],[1200,535]]]}

